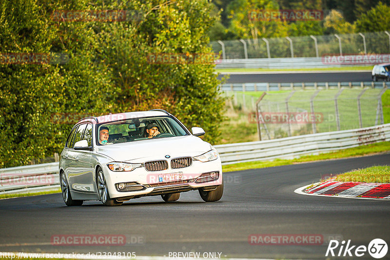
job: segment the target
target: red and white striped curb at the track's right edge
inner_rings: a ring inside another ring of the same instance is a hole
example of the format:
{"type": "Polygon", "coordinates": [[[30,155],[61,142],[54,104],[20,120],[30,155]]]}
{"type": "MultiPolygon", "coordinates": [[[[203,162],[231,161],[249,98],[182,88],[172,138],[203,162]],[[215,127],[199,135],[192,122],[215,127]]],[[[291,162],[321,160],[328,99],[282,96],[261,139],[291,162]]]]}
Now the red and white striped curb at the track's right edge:
{"type": "Polygon", "coordinates": [[[307,188],[309,186],[311,185],[297,188],[294,192],[305,195],[336,196],[342,198],[390,199],[389,183],[337,182],[329,180],[307,188]]]}

